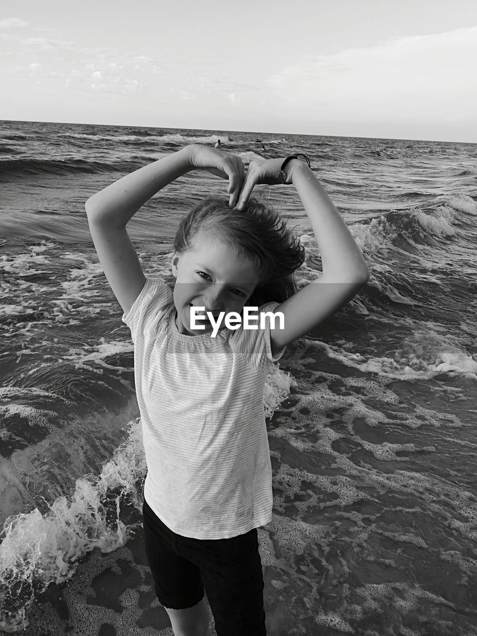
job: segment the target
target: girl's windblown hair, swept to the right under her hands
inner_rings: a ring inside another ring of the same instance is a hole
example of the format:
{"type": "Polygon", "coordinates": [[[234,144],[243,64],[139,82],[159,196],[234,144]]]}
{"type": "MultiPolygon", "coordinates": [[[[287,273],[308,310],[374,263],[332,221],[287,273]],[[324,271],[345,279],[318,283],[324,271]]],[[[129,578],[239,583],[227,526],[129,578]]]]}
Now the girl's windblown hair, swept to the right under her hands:
{"type": "Polygon", "coordinates": [[[248,258],[259,282],[247,305],[259,307],[270,301],[282,303],[297,291],[293,273],[305,261],[305,248],[293,230],[266,200],[250,198],[244,209],[236,210],[221,197],[206,197],[181,219],[174,250],[183,254],[195,249],[201,233],[211,242],[228,245],[238,258],[248,258]]]}

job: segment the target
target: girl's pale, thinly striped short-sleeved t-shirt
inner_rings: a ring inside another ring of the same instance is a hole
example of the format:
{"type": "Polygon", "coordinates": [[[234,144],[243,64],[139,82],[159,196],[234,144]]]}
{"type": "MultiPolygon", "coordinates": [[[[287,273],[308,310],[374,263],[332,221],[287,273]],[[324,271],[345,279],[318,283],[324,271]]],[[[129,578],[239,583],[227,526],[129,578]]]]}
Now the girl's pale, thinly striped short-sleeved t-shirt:
{"type": "Polygon", "coordinates": [[[134,342],[150,508],[170,530],[195,539],[229,539],[270,522],[263,389],[286,350],[272,356],[270,317],[265,329],[188,336],[177,329],[169,286],[146,277],[122,320],[134,342]]]}

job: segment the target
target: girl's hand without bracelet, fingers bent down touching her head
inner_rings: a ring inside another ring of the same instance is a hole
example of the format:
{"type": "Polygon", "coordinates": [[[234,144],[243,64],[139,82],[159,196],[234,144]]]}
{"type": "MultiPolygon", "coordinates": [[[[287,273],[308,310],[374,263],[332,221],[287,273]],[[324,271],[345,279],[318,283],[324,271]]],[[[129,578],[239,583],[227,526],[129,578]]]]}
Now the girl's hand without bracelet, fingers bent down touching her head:
{"type": "Polygon", "coordinates": [[[191,168],[207,170],[217,177],[228,179],[228,205],[234,207],[245,181],[245,166],[240,157],[202,144],[191,144],[188,151],[191,168]]]}

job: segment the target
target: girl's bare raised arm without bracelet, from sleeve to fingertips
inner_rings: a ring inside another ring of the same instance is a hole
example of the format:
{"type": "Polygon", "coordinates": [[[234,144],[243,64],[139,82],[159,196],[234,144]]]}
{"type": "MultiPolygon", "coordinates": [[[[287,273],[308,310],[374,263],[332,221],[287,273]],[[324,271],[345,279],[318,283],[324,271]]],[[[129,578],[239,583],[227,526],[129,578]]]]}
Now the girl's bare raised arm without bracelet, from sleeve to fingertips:
{"type": "Polygon", "coordinates": [[[198,144],[186,146],[135,170],[86,201],[86,214],[99,261],[126,314],[146,281],[126,225],[159,190],[196,168],[229,179],[230,204],[235,205],[244,181],[242,161],[198,144]]]}

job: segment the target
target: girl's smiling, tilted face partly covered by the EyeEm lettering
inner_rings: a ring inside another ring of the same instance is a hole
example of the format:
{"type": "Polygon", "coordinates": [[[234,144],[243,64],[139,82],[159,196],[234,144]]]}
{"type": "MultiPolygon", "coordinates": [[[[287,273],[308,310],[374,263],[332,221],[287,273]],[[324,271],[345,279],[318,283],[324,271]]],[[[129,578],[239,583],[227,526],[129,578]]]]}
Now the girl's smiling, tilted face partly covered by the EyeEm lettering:
{"type": "MultiPolygon", "coordinates": [[[[212,331],[208,320],[197,324],[205,329],[191,329],[190,307],[205,307],[204,315],[211,312],[218,317],[220,312],[240,314],[259,282],[254,265],[247,258],[237,258],[235,251],[223,243],[207,242],[202,234],[194,241],[196,249],[184,254],[174,252],[172,273],[176,277],[174,305],[177,309],[177,329],[190,336],[212,331]]],[[[196,315],[201,315],[197,312],[196,315]]],[[[225,317],[224,317],[225,318],[225,317]]],[[[221,329],[225,326],[224,319],[221,329]]]]}

